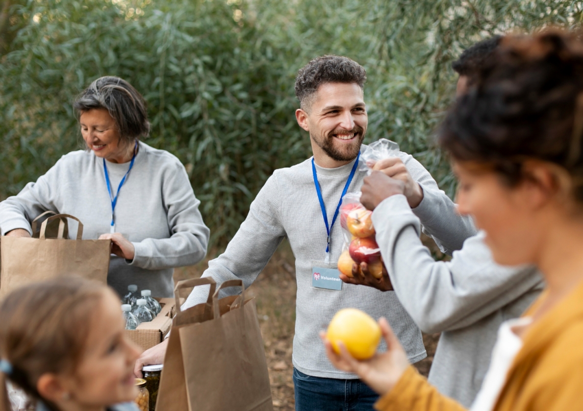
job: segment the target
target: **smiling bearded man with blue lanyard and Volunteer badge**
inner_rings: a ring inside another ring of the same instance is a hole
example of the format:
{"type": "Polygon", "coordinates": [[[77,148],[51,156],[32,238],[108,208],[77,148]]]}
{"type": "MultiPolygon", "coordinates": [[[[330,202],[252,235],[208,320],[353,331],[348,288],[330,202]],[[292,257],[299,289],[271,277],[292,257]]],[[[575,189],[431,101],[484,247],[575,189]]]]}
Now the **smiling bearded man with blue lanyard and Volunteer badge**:
{"type": "MultiPolygon", "coordinates": [[[[335,264],[343,246],[335,217],[342,193],[359,191],[367,175],[357,169],[359,152],[366,150],[362,145],[368,124],[365,81],[363,67],[335,55],[315,58],[298,72],[296,96],[301,108],[296,118],[310,133],[314,156],[273,172],[225,252],[210,261],[203,274],[217,284],[241,279],[249,287],[279,244],[288,239],[296,257],[293,379],[299,411],[370,410],[378,398],[356,375],[336,370],[326,358],[319,332],[342,308],[361,309],[375,320],[384,316],[412,363],[426,357],[421,332],[395,293],[343,284],[335,264]]],[[[448,229],[429,234],[442,249],[460,249],[476,233],[472,220],[456,214],[455,204],[412,156],[401,152],[395,165],[383,171],[403,181],[409,204],[422,222],[423,215],[433,215],[426,212],[429,205],[423,202],[423,193],[433,191],[431,210],[441,207],[440,218],[448,220],[442,226],[448,229]]],[[[226,297],[229,291],[237,292],[231,287],[219,296],[226,297]]],[[[196,287],[182,308],[205,302],[207,295],[207,286],[196,287]]],[[[166,346],[164,342],[147,350],[136,363],[136,374],[143,364],[160,364],[166,346]]],[[[379,349],[387,347],[382,343],[379,349]]]]}

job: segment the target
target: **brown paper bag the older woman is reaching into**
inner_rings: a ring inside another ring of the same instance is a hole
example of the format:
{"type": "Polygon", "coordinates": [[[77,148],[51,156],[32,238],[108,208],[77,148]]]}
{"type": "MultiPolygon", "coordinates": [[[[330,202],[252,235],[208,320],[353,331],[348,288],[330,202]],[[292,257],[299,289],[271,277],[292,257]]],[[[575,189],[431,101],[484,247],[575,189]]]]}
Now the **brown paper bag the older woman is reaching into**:
{"type": "Polygon", "coordinates": [[[0,298],[22,285],[62,276],[80,276],[107,284],[111,240],[83,240],[82,236],[83,224],[68,214],[44,220],[38,238],[2,236],[0,298]],[[79,222],[74,240],[64,238],[68,230],[66,218],[79,222]],[[57,238],[47,238],[47,225],[54,220],[59,220],[57,238]]]}

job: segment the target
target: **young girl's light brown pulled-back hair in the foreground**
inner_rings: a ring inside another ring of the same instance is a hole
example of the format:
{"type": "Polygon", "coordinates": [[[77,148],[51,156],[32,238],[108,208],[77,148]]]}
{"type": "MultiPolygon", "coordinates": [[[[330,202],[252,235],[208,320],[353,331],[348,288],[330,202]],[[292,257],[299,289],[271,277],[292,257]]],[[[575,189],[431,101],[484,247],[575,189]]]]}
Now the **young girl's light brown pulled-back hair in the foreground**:
{"type": "Polygon", "coordinates": [[[0,372],[0,411],[10,411],[6,379],[22,388],[31,402],[42,400],[36,386],[46,372],[74,372],[82,357],[92,316],[108,287],[78,277],[27,285],[0,304],[0,359],[12,371],[0,372]]]}

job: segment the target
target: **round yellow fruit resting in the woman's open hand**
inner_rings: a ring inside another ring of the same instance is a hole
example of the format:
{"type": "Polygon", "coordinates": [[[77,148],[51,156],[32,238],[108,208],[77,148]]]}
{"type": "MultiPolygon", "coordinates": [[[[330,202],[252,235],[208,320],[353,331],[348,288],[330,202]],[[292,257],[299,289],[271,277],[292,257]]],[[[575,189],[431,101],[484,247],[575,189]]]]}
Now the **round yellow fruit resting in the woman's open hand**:
{"type": "Polygon", "coordinates": [[[357,360],[366,360],[374,356],[381,340],[381,328],[374,319],[356,308],[341,309],[328,325],[326,338],[332,343],[332,349],[340,353],[338,342],[357,360]]]}

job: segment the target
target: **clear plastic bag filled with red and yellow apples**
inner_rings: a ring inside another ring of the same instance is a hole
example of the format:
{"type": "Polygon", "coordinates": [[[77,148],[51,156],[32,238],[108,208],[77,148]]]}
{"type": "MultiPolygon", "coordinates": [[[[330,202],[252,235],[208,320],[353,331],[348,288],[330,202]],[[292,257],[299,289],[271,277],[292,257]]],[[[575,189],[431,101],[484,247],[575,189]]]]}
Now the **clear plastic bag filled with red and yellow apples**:
{"type": "MultiPolygon", "coordinates": [[[[361,170],[370,170],[377,161],[398,156],[399,145],[381,138],[369,145],[361,155],[361,170]]],[[[353,276],[354,263],[362,274],[361,263],[368,265],[368,271],[375,278],[382,278],[381,249],[375,239],[373,212],[360,203],[360,191],[348,193],[342,197],[340,206],[340,225],[344,235],[345,246],[338,259],[338,270],[347,277],[353,276]]]]}

